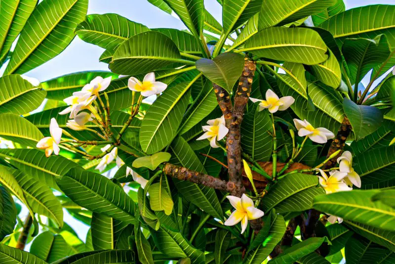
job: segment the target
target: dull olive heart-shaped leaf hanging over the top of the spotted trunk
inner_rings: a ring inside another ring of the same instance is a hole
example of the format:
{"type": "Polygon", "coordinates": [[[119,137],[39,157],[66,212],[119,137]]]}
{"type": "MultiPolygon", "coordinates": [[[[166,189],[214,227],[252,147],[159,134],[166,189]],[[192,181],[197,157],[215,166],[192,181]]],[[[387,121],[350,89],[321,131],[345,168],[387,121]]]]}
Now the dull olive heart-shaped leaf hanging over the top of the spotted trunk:
{"type": "Polygon", "coordinates": [[[240,78],[244,67],[243,56],[227,52],[216,56],[213,60],[199,59],[196,68],[211,82],[231,92],[240,78]]]}

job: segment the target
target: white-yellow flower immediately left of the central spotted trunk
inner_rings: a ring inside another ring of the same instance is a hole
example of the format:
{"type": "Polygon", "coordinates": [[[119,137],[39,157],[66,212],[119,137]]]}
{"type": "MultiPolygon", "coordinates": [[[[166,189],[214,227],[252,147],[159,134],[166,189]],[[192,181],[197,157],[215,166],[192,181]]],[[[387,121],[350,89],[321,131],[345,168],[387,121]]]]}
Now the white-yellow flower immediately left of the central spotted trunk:
{"type": "Polygon", "coordinates": [[[205,133],[196,140],[208,139],[211,147],[218,148],[216,141],[224,138],[229,132],[229,129],[225,126],[225,117],[211,119],[207,121],[207,124],[208,126],[202,127],[205,133]]]}

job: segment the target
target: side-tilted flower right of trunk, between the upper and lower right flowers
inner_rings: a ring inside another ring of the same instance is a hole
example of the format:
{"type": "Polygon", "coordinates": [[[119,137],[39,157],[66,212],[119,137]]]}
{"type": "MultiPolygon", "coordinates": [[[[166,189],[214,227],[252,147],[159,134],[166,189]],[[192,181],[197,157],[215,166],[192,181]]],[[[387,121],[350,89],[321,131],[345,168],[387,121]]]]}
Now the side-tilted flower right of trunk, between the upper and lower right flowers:
{"type": "Polygon", "coordinates": [[[314,128],[307,120],[304,121],[294,119],[295,127],[298,130],[299,136],[308,136],[312,141],[316,143],[326,143],[328,139],[334,138],[335,135],[325,128],[314,128]]]}

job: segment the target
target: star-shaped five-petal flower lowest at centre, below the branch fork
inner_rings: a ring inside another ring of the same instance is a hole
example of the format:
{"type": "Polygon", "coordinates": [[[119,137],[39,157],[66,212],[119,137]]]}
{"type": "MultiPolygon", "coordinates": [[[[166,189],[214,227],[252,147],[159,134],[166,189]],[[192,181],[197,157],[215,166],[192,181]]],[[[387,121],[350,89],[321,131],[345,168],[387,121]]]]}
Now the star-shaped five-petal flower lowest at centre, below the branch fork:
{"type": "Polygon", "coordinates": [[[248,220],[255,220],[263,217],[264,213],[254,207],[254,202],[247,195],[243,194],[241,198],[229,195],[228,198],[231,205],[236,209],[228,220],[225,221],[225,225],[235,225],[241,221],[241,233],[247,228],[248,220]]]}

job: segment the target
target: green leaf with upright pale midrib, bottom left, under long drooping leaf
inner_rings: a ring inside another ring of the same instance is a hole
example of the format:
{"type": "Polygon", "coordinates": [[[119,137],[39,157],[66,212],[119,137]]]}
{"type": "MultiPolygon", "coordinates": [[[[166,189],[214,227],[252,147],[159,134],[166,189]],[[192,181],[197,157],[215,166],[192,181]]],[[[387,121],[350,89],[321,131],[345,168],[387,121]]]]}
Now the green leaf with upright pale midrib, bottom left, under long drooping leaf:
{"type": "Polygon", "coordinates": [[[118,237],[128,225],[103,214],[93,213],[91,222],[92,245],[95,250],[115,249],[118,237]]]}

